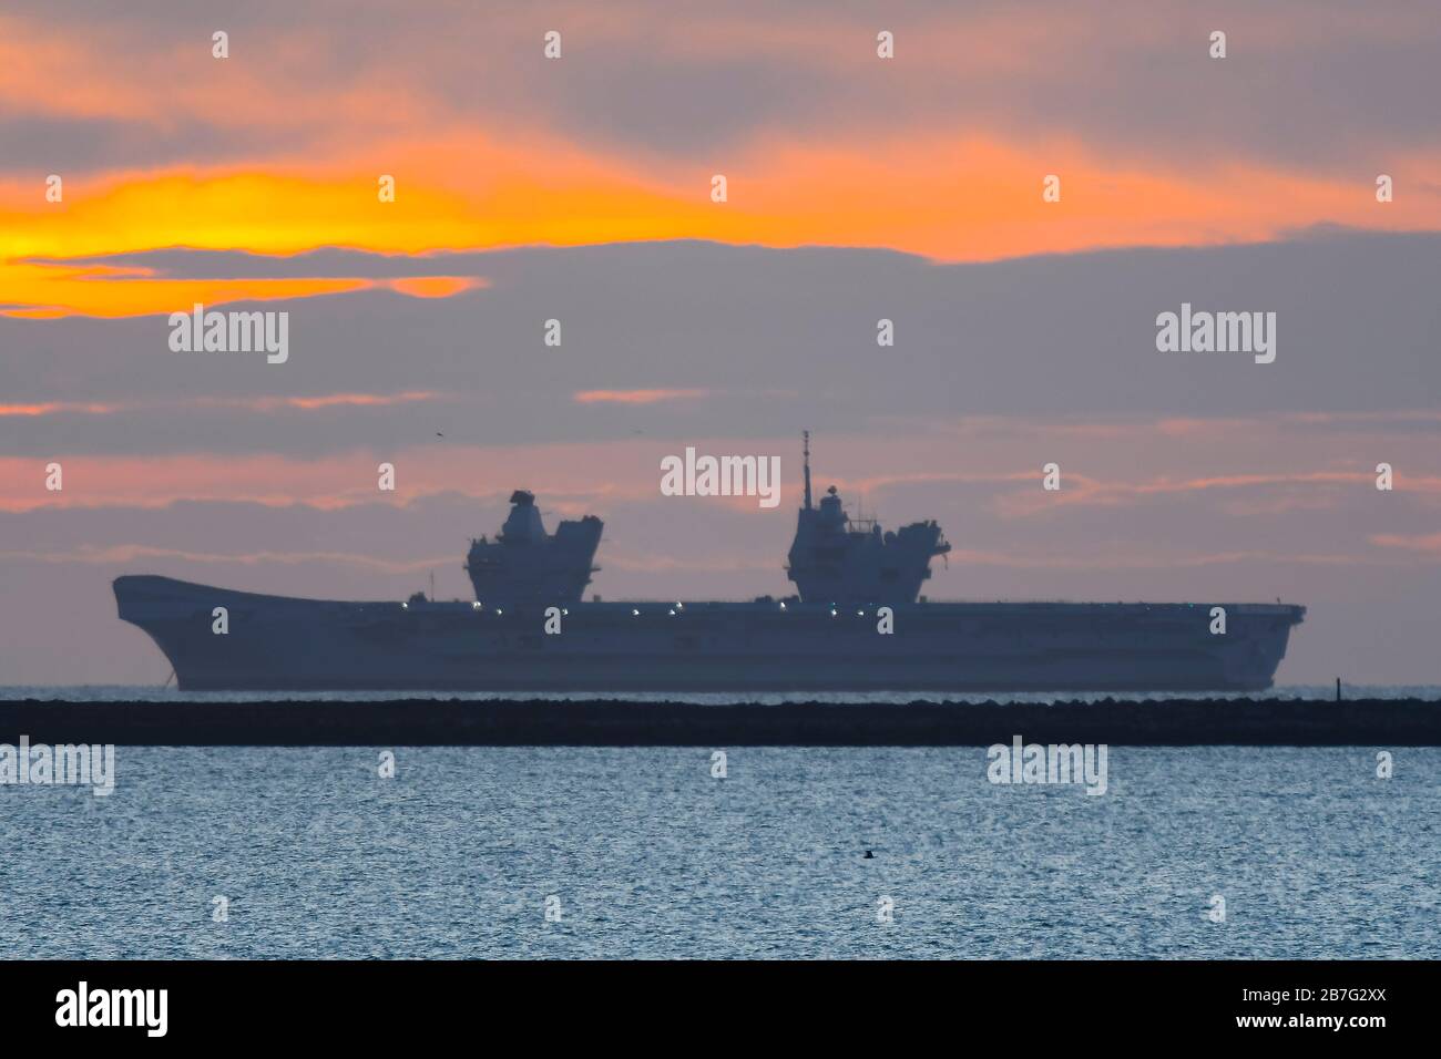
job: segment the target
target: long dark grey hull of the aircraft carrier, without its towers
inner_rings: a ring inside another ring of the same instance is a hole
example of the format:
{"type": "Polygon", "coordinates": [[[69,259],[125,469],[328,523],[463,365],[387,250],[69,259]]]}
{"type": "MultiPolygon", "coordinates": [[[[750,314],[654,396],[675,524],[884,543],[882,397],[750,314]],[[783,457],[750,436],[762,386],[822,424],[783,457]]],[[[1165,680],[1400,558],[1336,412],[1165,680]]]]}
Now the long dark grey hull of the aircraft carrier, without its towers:
{"type": "Polygon", "coordinates": [[[1281,604],[342,602],[115,581],[187,690],[1254,692],[1304,608],[1281,604]],[[1210,608],[1226,609],[1213,635],[1210,608]],[[215,608],[229,631],[212,631],[215,608]],[[637,614],[638,611],[638,614],[637,614]]]}

